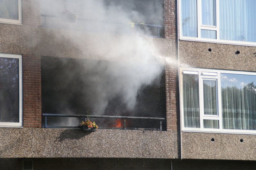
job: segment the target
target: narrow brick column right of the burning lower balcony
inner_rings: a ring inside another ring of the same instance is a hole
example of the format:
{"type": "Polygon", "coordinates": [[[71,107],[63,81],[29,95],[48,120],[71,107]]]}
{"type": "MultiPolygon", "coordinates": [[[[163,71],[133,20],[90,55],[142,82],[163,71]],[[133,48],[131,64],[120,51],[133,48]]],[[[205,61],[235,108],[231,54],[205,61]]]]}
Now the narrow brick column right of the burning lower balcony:
{"type": "Polygon", "coordinates": [[[177,131],[179,127],[179,82],[176,67],[165,67],[166,122],[167,131],[177,131]]]}

